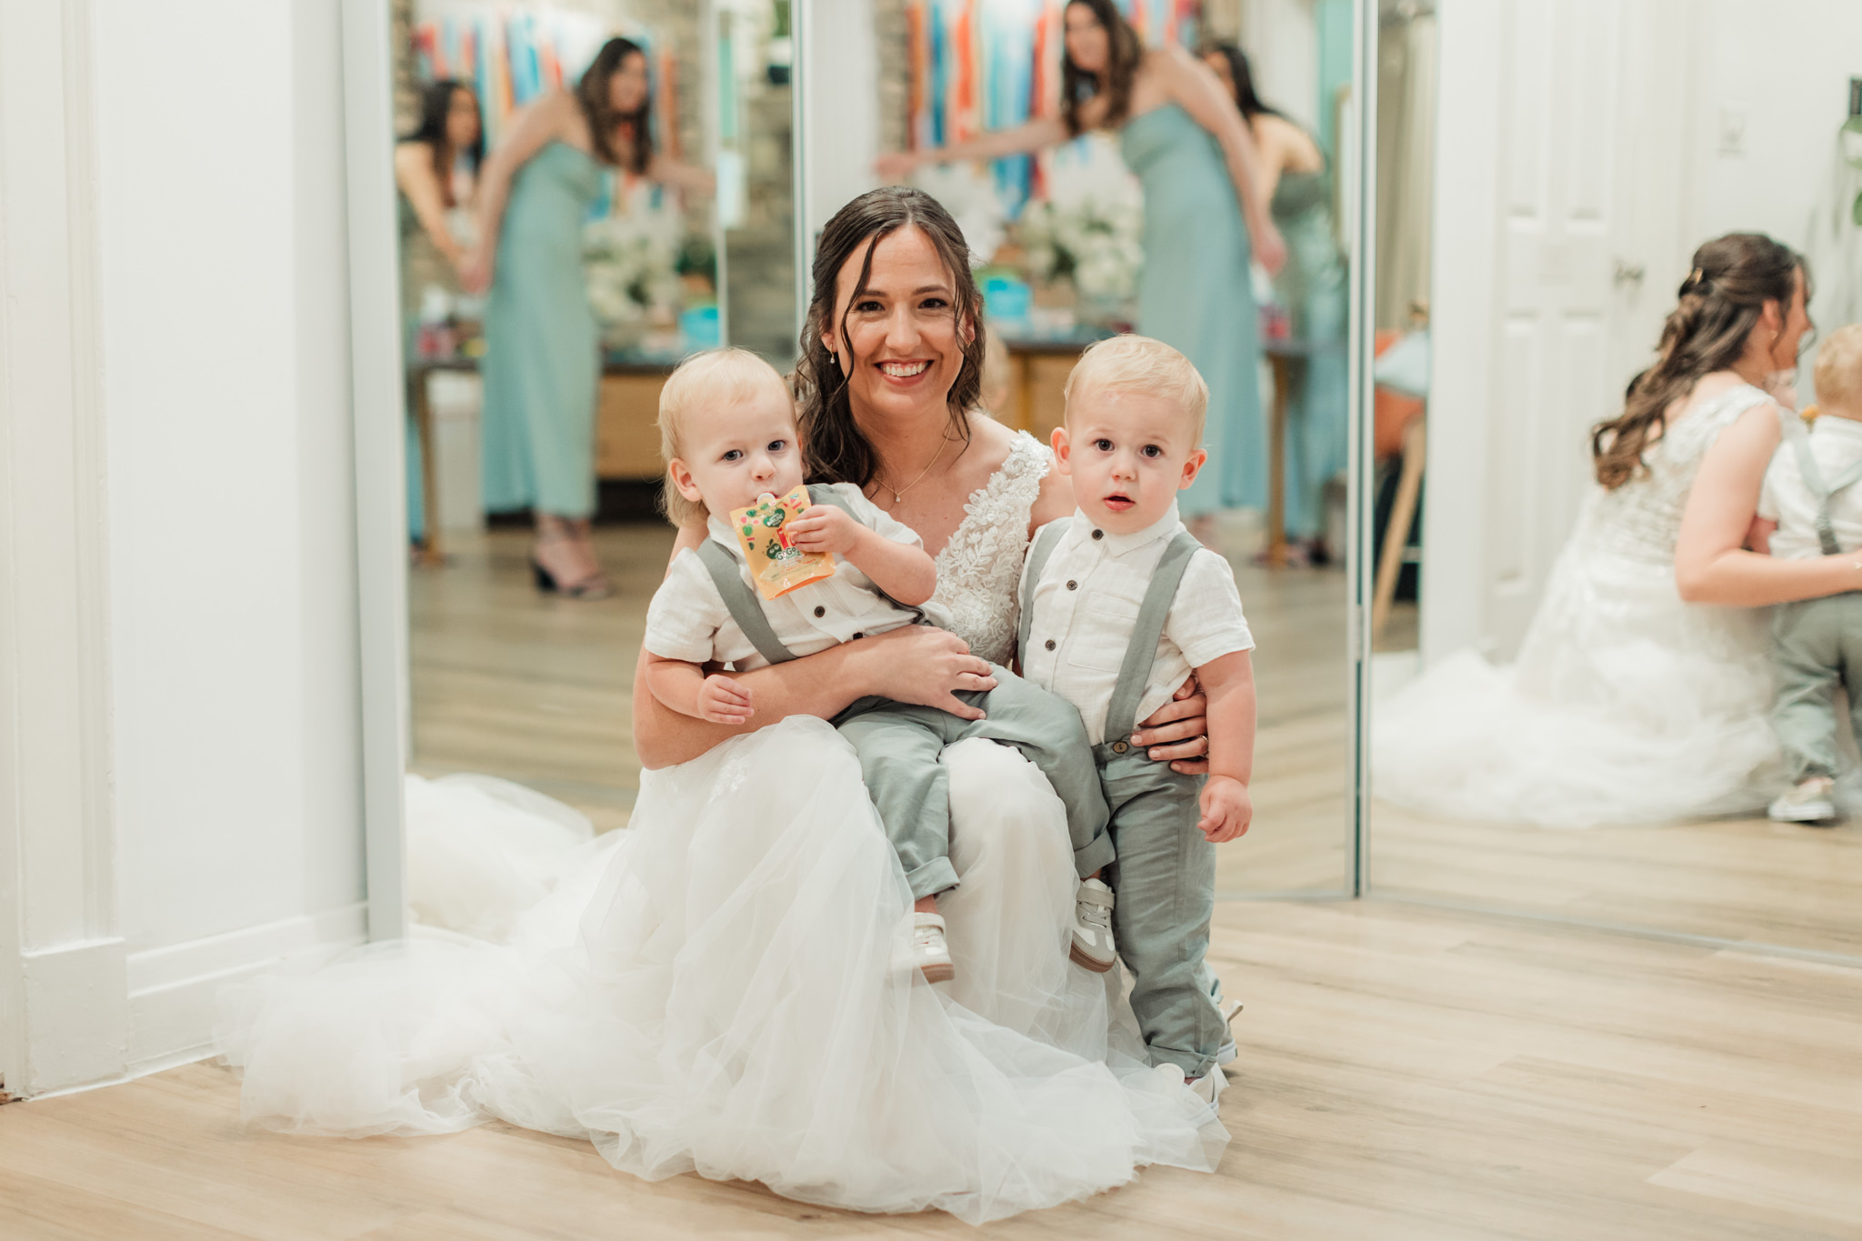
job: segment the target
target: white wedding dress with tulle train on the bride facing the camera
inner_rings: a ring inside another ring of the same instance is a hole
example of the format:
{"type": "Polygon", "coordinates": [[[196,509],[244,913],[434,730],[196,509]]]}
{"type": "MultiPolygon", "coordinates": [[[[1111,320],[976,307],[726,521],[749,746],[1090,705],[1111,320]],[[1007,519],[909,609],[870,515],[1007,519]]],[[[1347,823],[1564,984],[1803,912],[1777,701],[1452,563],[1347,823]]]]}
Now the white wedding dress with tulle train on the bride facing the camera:
{"type": "MultiPolygon", "coordinates": [[[[1017,437],[938,556],[989,659],[1013,640],[1046,467],[1017,437]]],[[[367,1135],[497,1116],[644,1178],[970,1222],[1145,1163],[1212,1170],[1214,1111],[1145,1066],[1117,975],[1067,960],[1059,800],[987,741],[946,763],[963,884],[940,899],[957,979],[937,988],[890,967],[911,889],[821,720],[642,772],[629,828],[600,839],[518,785],[410,778],[410,899],[451,930],[229,988],[246,1118],[367,1135]]]]}

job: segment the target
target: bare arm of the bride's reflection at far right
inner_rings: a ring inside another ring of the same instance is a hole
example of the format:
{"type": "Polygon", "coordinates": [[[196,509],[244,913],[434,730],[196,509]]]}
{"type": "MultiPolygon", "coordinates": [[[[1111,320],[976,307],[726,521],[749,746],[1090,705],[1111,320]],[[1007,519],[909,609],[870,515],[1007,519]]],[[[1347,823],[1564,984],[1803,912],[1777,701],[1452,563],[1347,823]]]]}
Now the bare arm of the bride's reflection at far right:
{"type": "Polygon", "coordinates": [[[1773,560],[1745,549],[1776,447],[1778,409],[1760,406],[1720,432],[1700,461],[1674,541],[1674,584],[1689,603],[1752,608],[1862,590],[1862,553],[1773,560]]]}

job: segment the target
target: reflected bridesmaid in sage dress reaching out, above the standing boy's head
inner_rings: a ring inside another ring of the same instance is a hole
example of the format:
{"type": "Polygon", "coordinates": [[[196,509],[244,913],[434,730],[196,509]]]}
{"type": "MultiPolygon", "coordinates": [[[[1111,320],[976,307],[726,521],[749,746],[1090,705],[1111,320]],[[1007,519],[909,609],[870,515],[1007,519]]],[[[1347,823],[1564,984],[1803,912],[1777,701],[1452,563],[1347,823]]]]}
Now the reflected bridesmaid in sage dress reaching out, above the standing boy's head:
{"type": "Polygon", "coordinates": [[[1266,502],[1259,311],[1249,249],[1268,272],[1287,257],[1274,225],[1261,153],[1216,74],[1179,47],[1145,48],[1112,0],[1065,11],[1061,115],[948,147],[881,156],[905,177],[918,164],[994,160],[1041,151],[1089,128],[1121,130],[1125,162],[1145,195],[1138,331],[1181,350],[1208,383],[1210,469],[1179,499],[1210,543],[1220,508],[1266,502]]]}

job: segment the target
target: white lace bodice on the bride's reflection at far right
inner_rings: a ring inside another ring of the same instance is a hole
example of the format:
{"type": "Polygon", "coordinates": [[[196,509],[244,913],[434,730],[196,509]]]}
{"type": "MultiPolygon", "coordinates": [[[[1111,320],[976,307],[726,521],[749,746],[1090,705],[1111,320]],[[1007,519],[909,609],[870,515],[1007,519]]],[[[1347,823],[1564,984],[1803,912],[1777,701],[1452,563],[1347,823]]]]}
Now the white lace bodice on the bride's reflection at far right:
{"type": "Polygon", "coordinates": [[[1577,527],[1579,540],[1596,551],[1648,564],[1674,564],[1674,540],[1681,532],[1681,510],[1694,487],[1694,471],[1720,432],[1767,400],[1771,396],[1760,389],[1741,383],[1672,422],[1655,447],[1642,454],[1648,463],[1642,474],[1614,491],[1592,493],[1577,527]]]}

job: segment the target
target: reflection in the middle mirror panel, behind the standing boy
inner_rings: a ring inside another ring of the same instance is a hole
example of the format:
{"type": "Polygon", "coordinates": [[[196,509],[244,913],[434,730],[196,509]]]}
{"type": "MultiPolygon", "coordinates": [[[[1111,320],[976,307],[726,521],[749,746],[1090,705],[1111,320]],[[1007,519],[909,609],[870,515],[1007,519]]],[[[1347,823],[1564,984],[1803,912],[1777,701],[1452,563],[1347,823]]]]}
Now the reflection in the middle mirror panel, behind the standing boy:
{"type": "Polygon", "coordinates": [[[1002,422],[1048,441],[1080,352],[1117,331],[1203,374],[1210,461],[1179,510],[1235,569],[1261,703],[1257,815],[1218,891],[1341,891],[1352,6],[1197,7],[881,4],[903,89],[877,167],[981,260],[1002,422]]]}

